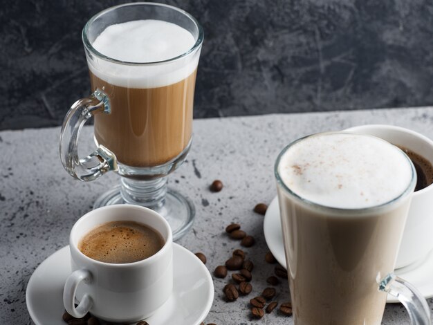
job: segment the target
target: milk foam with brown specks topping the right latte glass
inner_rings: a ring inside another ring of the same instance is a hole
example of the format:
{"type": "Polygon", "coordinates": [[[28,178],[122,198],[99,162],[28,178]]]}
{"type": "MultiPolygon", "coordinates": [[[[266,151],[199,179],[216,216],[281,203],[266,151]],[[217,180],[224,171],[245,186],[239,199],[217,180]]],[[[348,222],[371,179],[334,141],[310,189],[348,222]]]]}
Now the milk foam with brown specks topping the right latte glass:
{"type": "Polygon", "coordinates": [[[324,133],[295,143],[282,156],[278,171],[298,196],[342,209],[387,203],[412,180],[412,167],[400,149],[353,133],[324,133]]]}

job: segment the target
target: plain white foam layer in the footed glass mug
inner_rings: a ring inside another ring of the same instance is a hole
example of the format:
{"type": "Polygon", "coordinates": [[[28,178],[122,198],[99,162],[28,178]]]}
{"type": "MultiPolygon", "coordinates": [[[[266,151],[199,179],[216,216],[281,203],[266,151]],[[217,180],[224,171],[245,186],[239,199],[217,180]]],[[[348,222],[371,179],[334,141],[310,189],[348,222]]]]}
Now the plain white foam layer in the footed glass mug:
{"type": "MultiPolygon", "coordinates": [[[[161,20],[136,20],[107,27],[95,41],[98,52],[123,62],[151,63],[172,59],[196,42],[185,28],[161,20]]],[[[188,77],[199,64],[200,51],[165,64],[114,64],[88,57],[91,72],[100,79],[129,88],[155,88],[188,77]]]]}

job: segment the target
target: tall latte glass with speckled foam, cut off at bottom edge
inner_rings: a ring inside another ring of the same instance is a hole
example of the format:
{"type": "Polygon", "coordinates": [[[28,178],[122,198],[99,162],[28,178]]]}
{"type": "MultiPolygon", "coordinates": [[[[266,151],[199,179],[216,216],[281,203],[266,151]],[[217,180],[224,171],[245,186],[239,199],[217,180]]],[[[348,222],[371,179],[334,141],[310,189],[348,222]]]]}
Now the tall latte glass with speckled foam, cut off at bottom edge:
{"type": "Polygon", "coordinates": [[[392,274],[416,183],[403,151],[319,133],[288,145],[275,177],[296,325],[380,325],[387,293],[430,324],[425,299],[392,274]]]}

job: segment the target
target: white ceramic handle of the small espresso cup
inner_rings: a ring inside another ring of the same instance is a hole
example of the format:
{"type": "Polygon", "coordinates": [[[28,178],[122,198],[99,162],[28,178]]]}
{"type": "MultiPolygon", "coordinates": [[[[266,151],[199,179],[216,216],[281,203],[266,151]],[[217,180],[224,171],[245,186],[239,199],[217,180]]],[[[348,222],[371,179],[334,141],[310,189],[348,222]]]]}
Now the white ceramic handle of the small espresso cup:
{"type": "Polygon", "coordinates": [[[82,318],[86,313],[89,313],[89,310],[93,305],[91,297],[84,294],[80,304],[75,307],[75,293],[80,282],[90,284],[91,281],[92,275],[88,270],[76,270],[68,277],[68,279],[66,279],[63,290],[63,304],[69,315],[76,318],[82,318]]]}

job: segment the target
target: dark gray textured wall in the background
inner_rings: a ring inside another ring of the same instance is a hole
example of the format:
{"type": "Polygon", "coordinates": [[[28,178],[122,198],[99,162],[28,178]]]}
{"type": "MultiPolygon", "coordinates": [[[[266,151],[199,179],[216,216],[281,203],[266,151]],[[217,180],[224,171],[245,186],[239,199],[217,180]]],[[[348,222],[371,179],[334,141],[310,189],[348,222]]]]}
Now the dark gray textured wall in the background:
{"type": "MultiPolygon", "coordinates": [[[[0,129],[61,124],[89,93],[80,33],[126,1],[0,6],[0,129]]],[[[167,0],[205,30],[196,118],[432,104],[430,0],[167,0]]]]}

